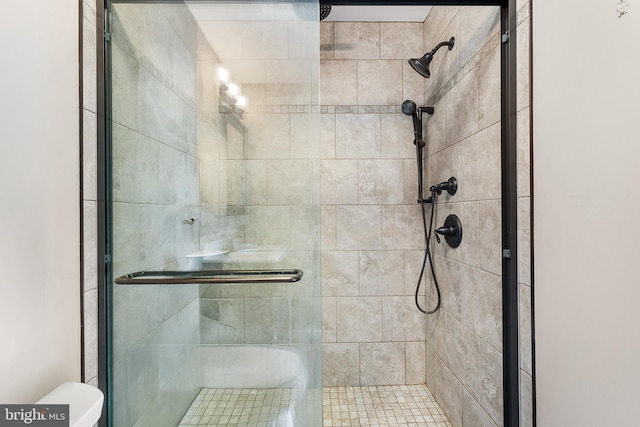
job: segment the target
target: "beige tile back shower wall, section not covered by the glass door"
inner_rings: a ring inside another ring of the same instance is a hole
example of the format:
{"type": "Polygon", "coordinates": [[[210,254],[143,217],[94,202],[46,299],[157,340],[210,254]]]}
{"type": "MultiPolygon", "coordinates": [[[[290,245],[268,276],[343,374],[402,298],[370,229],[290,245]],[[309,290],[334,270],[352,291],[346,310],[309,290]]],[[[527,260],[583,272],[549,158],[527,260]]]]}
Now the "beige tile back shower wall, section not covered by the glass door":
{"type": "Polygon", "coordinates": [[[321,23],[323,382],[424,383],[413,127],[424,102],[407,59],[421,23],[321,23]]]}

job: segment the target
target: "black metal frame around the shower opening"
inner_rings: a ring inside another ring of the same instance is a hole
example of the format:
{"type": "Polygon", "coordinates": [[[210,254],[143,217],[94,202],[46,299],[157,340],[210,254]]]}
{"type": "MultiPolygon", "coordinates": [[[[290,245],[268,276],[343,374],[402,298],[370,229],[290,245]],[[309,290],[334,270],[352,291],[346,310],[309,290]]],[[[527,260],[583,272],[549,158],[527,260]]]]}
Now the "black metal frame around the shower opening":
{"type": "MultiPolygon", "coordinates": [[[[119,0],[127,2],[128,0],[119,0]]],[[[132,0],[136,3],[159,0],[132,0]]],[[[215,2],[216,0],[203,0],[215,2]]],[[[221,3],[233,3],[230,0],[218,0],[221,3]]],[[[165,0],[165,2],[178,2],[165,0]]],[[[107,334],[109,328],[109,312],[107,310],[108,264],[110,250],[108,247],[108,198],[107,188],[109,171],[109,147],[106,132],[109,126],[107,117],[109,106],[106,82],[107,56],[105,55],[104,10],[106,0],[96,0],[96,47],[97,47],[97,126],[98,126],[98,170],[97,170],[97,256],[98,256],[98,383],[99,388],[110,396],[107,371],[111,361],[107,351],[107,334]]],[[[519,363],[519,292],[518,292],[518,239],[517,239],[517,105],[516,105],[516,0],[321,0],[321,4],[336,6],[499,6],[501,13],[501,169],[502,169],[502,316],[503,316],[503,403],[504,425],[519,427],[520,425],[520,363],[519,363]]],[[[533,245],[533,242],[532,242],[533,245]]],[[[533,282],[533,281],[532,281],[533,282]]],[[[533,283],[532,283],[533,286],[533,283]]],[[[533,329],[533,319],[532,319],[533,329]]],[[[532,344],[533,347],[533,344],[532,344]]],[[[532,350],[532,357],[534,357],[532,350]]],[[[535,417],[535,359],[533,362],[533,425],[535,417]]],[[[103,407],[103,416],[99,425],[106,426],[107,405],[103,407]]]]}

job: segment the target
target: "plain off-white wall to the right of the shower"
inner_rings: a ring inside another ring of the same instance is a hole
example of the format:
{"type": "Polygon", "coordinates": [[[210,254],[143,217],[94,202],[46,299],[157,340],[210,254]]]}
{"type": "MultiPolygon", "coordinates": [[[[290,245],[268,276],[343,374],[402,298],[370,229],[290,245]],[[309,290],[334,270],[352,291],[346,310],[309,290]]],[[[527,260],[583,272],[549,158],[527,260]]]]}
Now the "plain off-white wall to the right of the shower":
{"type": "Polygon", "coordinates": [[[534,0],[538,426],[638,425],[640,5],[534,0]]]}

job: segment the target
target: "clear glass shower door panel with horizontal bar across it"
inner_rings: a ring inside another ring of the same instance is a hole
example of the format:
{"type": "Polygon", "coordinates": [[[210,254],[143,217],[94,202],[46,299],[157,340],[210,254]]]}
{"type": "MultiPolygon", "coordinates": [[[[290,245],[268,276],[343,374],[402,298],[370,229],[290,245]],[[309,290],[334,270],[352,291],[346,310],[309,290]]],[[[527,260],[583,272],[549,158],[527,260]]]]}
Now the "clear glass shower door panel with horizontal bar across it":
{"type": "Polygon", "coordinates": [[[318,10],[107,2],[111,426],[322,423],[318,10]]]}

